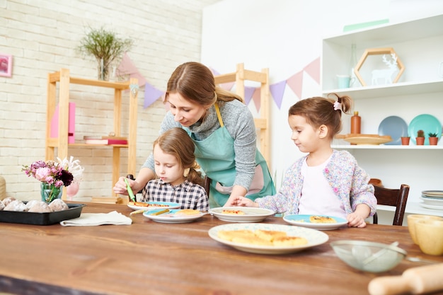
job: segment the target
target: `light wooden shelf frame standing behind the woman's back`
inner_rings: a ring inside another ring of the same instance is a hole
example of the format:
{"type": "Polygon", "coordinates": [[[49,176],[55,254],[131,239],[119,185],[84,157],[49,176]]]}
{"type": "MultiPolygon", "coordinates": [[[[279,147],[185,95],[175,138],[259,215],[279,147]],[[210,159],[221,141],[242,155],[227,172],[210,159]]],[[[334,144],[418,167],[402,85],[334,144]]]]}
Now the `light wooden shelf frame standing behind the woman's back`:
{"type": "Polygon", "coordinates": [[[237,64],[234,73],[222,74],[214,77],[216,84],[236,82],[236,93],[244,99],[245,81],[260,82],[260,117],[255,117],[255,128],[260,132],[260,152],[266,160],[267,166],[271,168],[270,157],[270,90],[269,69],[262,71],[246,70],[244,64],[237,64]]]}

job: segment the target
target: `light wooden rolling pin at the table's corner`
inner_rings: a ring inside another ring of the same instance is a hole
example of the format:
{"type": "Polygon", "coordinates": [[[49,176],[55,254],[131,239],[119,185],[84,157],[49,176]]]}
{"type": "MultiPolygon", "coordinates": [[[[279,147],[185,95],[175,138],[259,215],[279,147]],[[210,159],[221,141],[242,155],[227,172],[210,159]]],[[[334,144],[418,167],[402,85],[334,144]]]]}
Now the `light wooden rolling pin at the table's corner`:
{"type": "Polygon", "coordinates": [[[425,294],[443,290],[443,263],[413,267],[401,276],[376,277],[369,282],[371,295],[425,294]]]}

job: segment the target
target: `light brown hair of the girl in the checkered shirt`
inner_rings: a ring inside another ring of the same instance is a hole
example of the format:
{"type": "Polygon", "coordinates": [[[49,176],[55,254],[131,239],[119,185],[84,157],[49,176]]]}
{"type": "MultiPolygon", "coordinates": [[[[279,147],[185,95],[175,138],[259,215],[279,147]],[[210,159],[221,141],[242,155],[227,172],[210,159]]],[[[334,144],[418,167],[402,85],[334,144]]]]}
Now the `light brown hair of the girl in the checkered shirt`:
{"type": "Polygon", "coordinates": [[[188,132],[178,127],[168,129],[154,141],[154,147],[157,144],[164,153],[175,156],[183,169],[190,168],[188,177],[185,177],[187,180],[203,185],[202,174],[196,170],[200,166],[195,162],[194,141],[188,132]]]}

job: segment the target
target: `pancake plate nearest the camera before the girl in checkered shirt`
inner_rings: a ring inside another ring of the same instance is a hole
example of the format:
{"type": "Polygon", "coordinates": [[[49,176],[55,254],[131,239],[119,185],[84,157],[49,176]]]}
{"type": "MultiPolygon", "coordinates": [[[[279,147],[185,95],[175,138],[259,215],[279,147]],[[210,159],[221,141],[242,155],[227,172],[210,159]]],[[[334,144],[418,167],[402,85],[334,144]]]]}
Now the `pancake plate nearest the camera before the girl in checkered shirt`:
{"type": "Polygon", "coordinates": [[[143,213],[148,219],[164,224],[183,224],[200,219],[205,213],[192,209],[155,209],[143,213]],[[168,212],[161,213],[165,210],[168,212]],[[159,214],[160,213],[160,214],[159,214]]]}

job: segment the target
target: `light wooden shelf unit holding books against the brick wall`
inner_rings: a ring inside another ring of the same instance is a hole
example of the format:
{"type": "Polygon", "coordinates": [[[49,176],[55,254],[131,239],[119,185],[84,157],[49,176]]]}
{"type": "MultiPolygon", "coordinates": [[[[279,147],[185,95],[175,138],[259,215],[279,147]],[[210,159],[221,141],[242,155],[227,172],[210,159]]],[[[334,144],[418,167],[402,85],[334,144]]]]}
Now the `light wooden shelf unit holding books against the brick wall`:
{"type": "MultiPolygon", "coordinates": [[[[61,69],[60,71],[49,73],[47,75],[47,115],[46,115],[46,160],[54,160],[54,149],[57,148],[57,156],[59,158],[68,157],[69,146],[104,146],[98,144],[68,144],[68,125],[69,125],[69,85],[79,84],[85,86],[98,86],[105,88],[113,88],[114,91],[114,126],[113,132],[116,137],[120,137],[120,129],[122,122],[122,91],[130,89],[131,85],[138,86],[137,79],[130,79],[127,82],[109,82],[91,79],[81,79],[71,77],[69,69],[61,69]],[[58,137],[51,137],[51,120],[57,106],[57,83],[59,84],[59,126],[58,137]]],[[[136,144],[137,144],[137,96],[138,91],[129,91],[129,131],[127,144],[109,145],[113,149],[113,184],[120,177],[120,149],[128,149],[127,171],[125,173],[135,174],[136,170],[136,144]]],[[[116,197],[111,187],[111,195],[116,197]]],[[[63,199],[66,199],[66,187],[63,190],[63,199]]]]}

